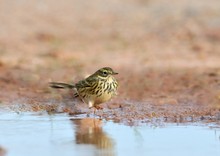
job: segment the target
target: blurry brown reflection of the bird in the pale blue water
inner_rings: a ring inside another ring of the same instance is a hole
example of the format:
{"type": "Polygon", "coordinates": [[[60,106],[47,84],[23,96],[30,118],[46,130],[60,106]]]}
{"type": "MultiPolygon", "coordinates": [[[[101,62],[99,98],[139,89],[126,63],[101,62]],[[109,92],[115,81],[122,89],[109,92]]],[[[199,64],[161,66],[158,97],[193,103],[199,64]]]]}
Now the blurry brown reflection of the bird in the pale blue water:
{"type": "Polygon", "coordinates": [[[102,128],[102,120],[95,118],[73,119],[76,144],[94,145],[97,150],[107,150],[114,155],[114,142],[102,128]]]}

